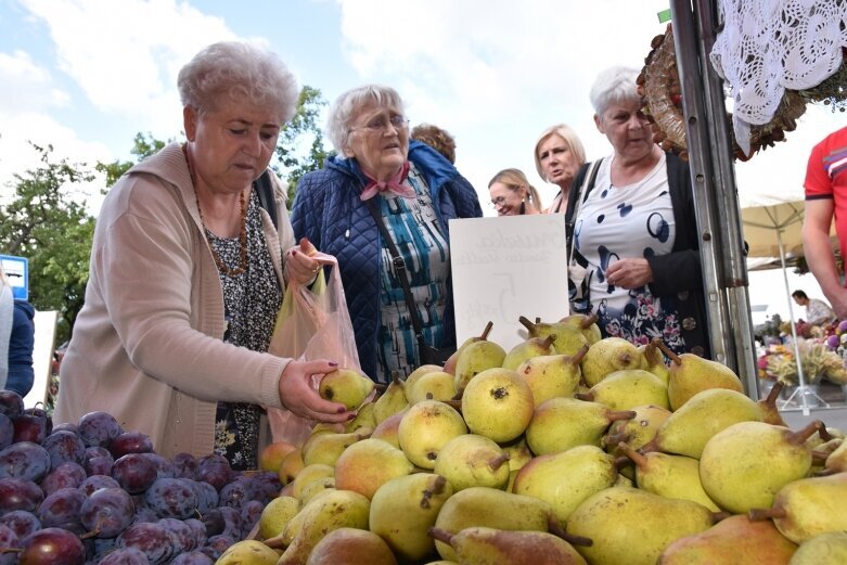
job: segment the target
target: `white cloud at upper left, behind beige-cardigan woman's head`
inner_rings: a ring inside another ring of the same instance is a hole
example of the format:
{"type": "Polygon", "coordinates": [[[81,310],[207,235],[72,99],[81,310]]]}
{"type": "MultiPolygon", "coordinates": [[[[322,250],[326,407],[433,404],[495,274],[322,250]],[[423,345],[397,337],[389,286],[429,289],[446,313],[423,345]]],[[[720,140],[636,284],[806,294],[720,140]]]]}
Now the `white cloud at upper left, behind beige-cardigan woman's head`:
{"type": "Polygon", "coordinates": [[[106,114],[172,134],[179,68],[202,47],[234,39],[219,17],[175,0],[23,0],[55,43],[59,67],[106,114]]]}

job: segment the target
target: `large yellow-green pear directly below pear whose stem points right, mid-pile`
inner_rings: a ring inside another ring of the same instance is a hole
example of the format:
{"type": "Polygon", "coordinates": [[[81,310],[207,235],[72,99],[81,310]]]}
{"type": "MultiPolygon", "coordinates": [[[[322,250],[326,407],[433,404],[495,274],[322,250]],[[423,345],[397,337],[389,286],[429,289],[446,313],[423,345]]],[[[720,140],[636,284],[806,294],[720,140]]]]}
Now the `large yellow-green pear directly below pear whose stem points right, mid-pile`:
{"type": "Polygon", "coordinates": [[[615,480],[617,468],[612,455],[599,447],[577,446],[532,459],[517,473],[512,491],[548,502],[564,524],[583,500],[615,480]]]}

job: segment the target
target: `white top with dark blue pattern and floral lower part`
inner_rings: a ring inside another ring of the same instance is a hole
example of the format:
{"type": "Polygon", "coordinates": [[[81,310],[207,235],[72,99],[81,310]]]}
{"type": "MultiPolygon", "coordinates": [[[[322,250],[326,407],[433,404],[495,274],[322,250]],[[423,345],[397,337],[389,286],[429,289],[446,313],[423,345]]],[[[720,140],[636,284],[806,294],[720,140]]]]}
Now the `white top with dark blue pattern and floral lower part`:
{"type": "Polygon", "coordinates": [[[588,262],[588,311],[598,314],[604,337],[623,337],[636,345],[658,337],[682,352],[685,343],[673,298],[654,296],[646,285],[620,288],[608,284],[605,275],[619,258],[671,252],[677,227],[666,156],[643,179],[627,187],[612,185],[613,160],[603,159],[574,226],[576,249],[588,262]]]}

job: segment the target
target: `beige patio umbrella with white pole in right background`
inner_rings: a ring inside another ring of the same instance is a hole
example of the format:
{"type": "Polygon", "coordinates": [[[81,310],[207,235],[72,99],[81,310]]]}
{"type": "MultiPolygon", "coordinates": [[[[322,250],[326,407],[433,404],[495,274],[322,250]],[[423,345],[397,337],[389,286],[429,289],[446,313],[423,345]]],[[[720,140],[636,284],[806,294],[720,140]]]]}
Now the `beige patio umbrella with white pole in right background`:
{"type": "Polygon", "coordinates": [[[794,322],[794,307],[788,287],[786,259],[803,256],[803,214],[804,201],[782,202],[763,206],[754,206],[741,210],[744,241],[749,245],[747,258],[779,257],[782,275],[785,282],[785,299],[788,305],[792,341],[794,342],[794,358],[797,362],[797,380],[799,386],[795,394],[800,395],[804,415],[809,414],[806,397],[806,377],[803,374],[803,363],[797,344],[797,331],[794,322]]]}

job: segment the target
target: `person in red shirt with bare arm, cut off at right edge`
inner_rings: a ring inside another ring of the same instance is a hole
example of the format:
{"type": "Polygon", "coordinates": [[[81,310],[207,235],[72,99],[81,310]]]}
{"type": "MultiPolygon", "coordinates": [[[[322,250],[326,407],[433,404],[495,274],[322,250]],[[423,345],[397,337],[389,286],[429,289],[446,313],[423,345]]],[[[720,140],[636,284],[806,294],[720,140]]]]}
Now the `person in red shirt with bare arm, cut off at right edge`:
{"type": "Polygon", "coordinates": [[[830,227],[835,231],[842,254],[847,253],[847,127],[814,145],[806,169],[806,218],[803,246],[806,262],[839,319],[847,318],[847,288],[835,265],[830,244],[830,227]]]}

